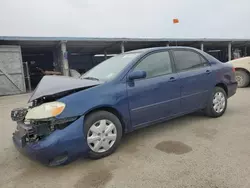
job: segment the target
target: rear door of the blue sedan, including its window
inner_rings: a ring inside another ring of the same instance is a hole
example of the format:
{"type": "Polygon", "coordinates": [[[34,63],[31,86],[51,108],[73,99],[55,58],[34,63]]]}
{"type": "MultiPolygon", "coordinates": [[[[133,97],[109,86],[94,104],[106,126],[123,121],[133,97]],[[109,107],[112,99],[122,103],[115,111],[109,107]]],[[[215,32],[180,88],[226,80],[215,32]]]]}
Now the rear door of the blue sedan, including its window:
{"type": "Polygon", "coordinates": [[[211,65],[194,50],[176,49],[173,54],[181,83],[182,112],[204,108],[214,85],[211,65]]]}

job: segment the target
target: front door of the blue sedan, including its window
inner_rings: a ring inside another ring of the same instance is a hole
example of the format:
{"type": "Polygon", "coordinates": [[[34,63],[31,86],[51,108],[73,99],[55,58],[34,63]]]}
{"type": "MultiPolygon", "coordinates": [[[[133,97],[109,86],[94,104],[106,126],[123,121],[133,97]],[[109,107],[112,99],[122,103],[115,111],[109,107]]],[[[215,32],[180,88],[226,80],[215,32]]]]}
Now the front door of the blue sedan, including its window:
{"type": "Polygon", "coordinates": [[[131,71],[147,73],[144,79],[127,82],[130,115],[134,127],[167,118],[180,111],[180,82],[173,73],[168,51],[154,52],[131,71]]]}

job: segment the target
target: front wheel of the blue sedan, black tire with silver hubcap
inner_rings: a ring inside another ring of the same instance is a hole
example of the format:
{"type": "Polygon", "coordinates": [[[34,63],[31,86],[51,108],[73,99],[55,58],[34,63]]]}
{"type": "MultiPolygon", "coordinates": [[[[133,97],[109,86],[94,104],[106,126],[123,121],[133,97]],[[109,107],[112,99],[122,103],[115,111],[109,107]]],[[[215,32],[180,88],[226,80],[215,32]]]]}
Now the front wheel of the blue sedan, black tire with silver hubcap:
{"type": "Polygon", "coordinates": [[[84,126],[89,158],[100,159],[116,150],[122,138],[122,125],[114,114],[93,112],[86,117],[84,126]]]}

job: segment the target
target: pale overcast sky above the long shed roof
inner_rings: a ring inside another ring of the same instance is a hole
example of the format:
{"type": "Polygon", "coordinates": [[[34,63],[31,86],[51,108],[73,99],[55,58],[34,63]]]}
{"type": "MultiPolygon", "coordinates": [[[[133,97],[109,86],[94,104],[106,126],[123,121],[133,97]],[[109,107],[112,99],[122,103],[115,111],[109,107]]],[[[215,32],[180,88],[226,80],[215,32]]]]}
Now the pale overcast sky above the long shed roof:
{"type": "Polygon", "coordinates": [[[249,7],[249,0],[0,0],[0,36],[250,39],[249,7]]]}

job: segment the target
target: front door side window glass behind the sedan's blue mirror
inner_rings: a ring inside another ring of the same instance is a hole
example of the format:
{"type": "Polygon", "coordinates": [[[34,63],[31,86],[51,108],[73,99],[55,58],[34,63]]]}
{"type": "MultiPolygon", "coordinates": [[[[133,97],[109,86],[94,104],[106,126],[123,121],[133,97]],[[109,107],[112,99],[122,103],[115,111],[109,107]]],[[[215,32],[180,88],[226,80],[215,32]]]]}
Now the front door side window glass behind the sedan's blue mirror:
{"type": "Polygon", "coordinates": [[[169,52],[157,52],[147,56],[135,68],[147,73],[147,78],[172,73],[169,52]]]}

